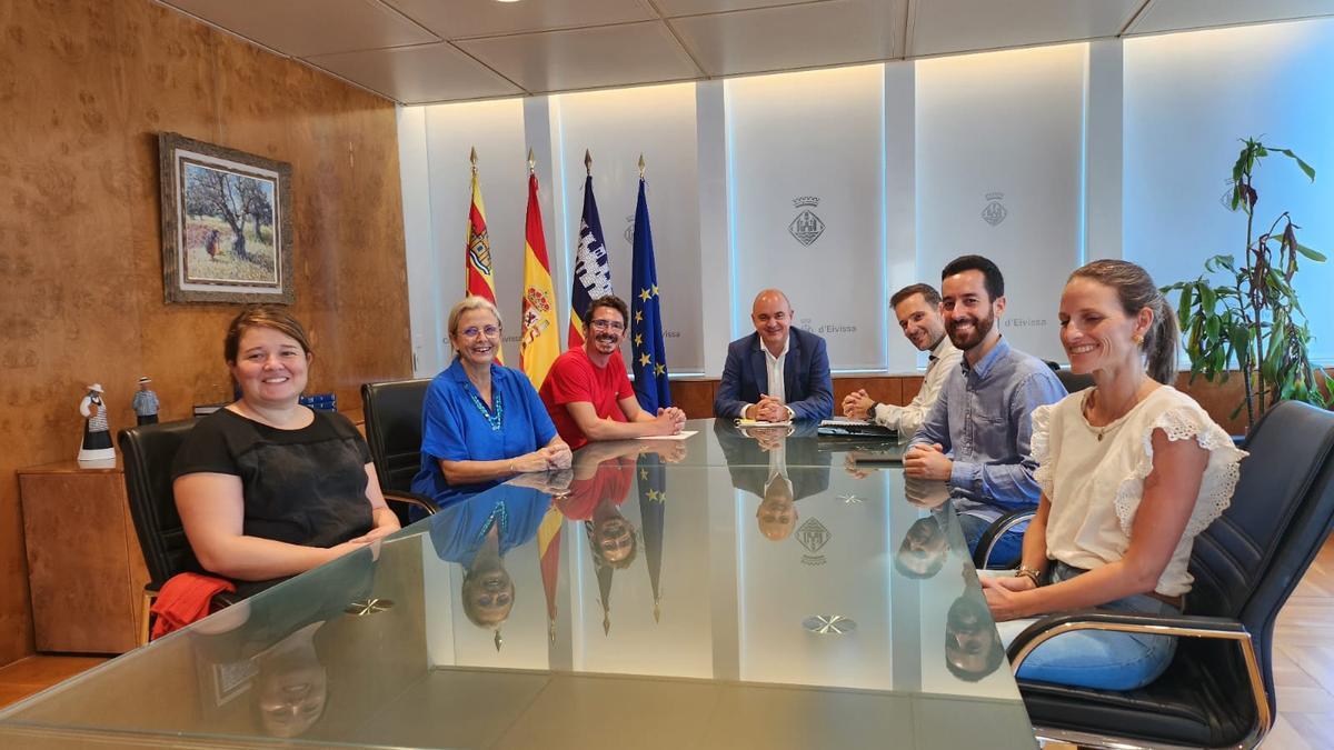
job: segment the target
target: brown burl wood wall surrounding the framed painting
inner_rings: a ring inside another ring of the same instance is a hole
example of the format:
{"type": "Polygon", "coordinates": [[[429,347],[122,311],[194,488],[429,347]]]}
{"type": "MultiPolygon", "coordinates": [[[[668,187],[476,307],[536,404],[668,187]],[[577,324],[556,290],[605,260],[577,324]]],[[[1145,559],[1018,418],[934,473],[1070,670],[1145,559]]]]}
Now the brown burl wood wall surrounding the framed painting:
{"type": "Polygon", "coordinates": [[[236,307],[163,303],[156,133],[292,164],[312,391],[411,374],[392,103],[148,0],[0,3],[0,665],[32,650],[15,468],[72,458],[87,383],[113,428],[228,396],[236,307]]]}

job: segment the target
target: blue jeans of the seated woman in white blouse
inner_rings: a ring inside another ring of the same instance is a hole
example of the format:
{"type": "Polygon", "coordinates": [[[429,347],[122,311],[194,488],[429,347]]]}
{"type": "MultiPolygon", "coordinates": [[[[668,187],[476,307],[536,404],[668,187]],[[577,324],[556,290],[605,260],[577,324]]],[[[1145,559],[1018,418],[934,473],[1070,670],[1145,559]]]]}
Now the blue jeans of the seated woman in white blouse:
{"type": "MultiPolygon", "coordinates": [[[[1079,575],[1081,570],[1055,562],[1053,583],[1079,575]]],[[[1146,594],[1099,605],[1099,610],[1135,614],[1179,615],[1181,610],[1146,594]]],[[[1000,623],[1000,638],[1010,641],[1033,621],[1000,623]]],[[[1075,630],[1038,646],[1019,665],[1017,677],[1101,690],[1134,690],[1158,679],[1177,653],[1171,635],[1075,630]]]]}

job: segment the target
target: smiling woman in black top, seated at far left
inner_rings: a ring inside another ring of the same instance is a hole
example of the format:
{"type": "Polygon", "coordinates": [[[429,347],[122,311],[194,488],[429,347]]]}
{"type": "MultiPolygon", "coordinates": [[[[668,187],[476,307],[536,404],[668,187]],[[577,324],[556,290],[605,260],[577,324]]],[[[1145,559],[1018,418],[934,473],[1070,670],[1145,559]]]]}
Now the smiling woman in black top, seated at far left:
{"type": "Polygon", "coordinates": [[[269,581],[396,531],[352,423],[297,403],[312,358],[301,324],[279,307],[247,310],[227,331],[224,356],[241,398],[200,420],[172,468],[200,565],[269,581]]]}

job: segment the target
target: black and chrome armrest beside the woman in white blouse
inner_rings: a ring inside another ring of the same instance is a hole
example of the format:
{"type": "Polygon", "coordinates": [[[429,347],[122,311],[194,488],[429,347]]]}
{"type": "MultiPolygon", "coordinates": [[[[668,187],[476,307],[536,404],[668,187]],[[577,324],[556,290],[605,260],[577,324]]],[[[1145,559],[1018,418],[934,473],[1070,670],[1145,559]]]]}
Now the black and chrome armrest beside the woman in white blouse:
{"type": "Polygon", "coordinates": [[[1111,630],[1147,633],[1186,638],[1225,638],[1250,642],[1250,631],[1241,622],[1222,617],[1147,615],[1107,610],[1074,610],[1047,615],[1023,629],[1010,643],[1010,665],[1018,670],[1023,659],[1049,638],[1073,630],[1111,630]]]}

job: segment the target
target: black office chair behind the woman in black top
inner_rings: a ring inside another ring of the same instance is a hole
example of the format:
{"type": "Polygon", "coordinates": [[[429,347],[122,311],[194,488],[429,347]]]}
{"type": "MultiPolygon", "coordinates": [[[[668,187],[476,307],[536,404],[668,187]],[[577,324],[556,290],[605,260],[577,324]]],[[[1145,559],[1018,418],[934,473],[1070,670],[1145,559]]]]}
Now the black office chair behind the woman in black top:
{"type": "MultiPolygon", "coordinates": [[[[129,516],[135,522],[135,535],[144,551],[149,577],[144,586],[140,645],[148,642],[149,609],[163,585],[177,573],[208,575],[189,547],[185,528],[176,512],[176,496],[172,494],[171,464],[193,428],[195,420],[187,419],[131,427],[121,430],[119,435],[120,452],[125,460],[129,516]]],[[[217,603],[231,603],[225,595],[219,597],[221,598],[215,598],[217,603]]]]}

